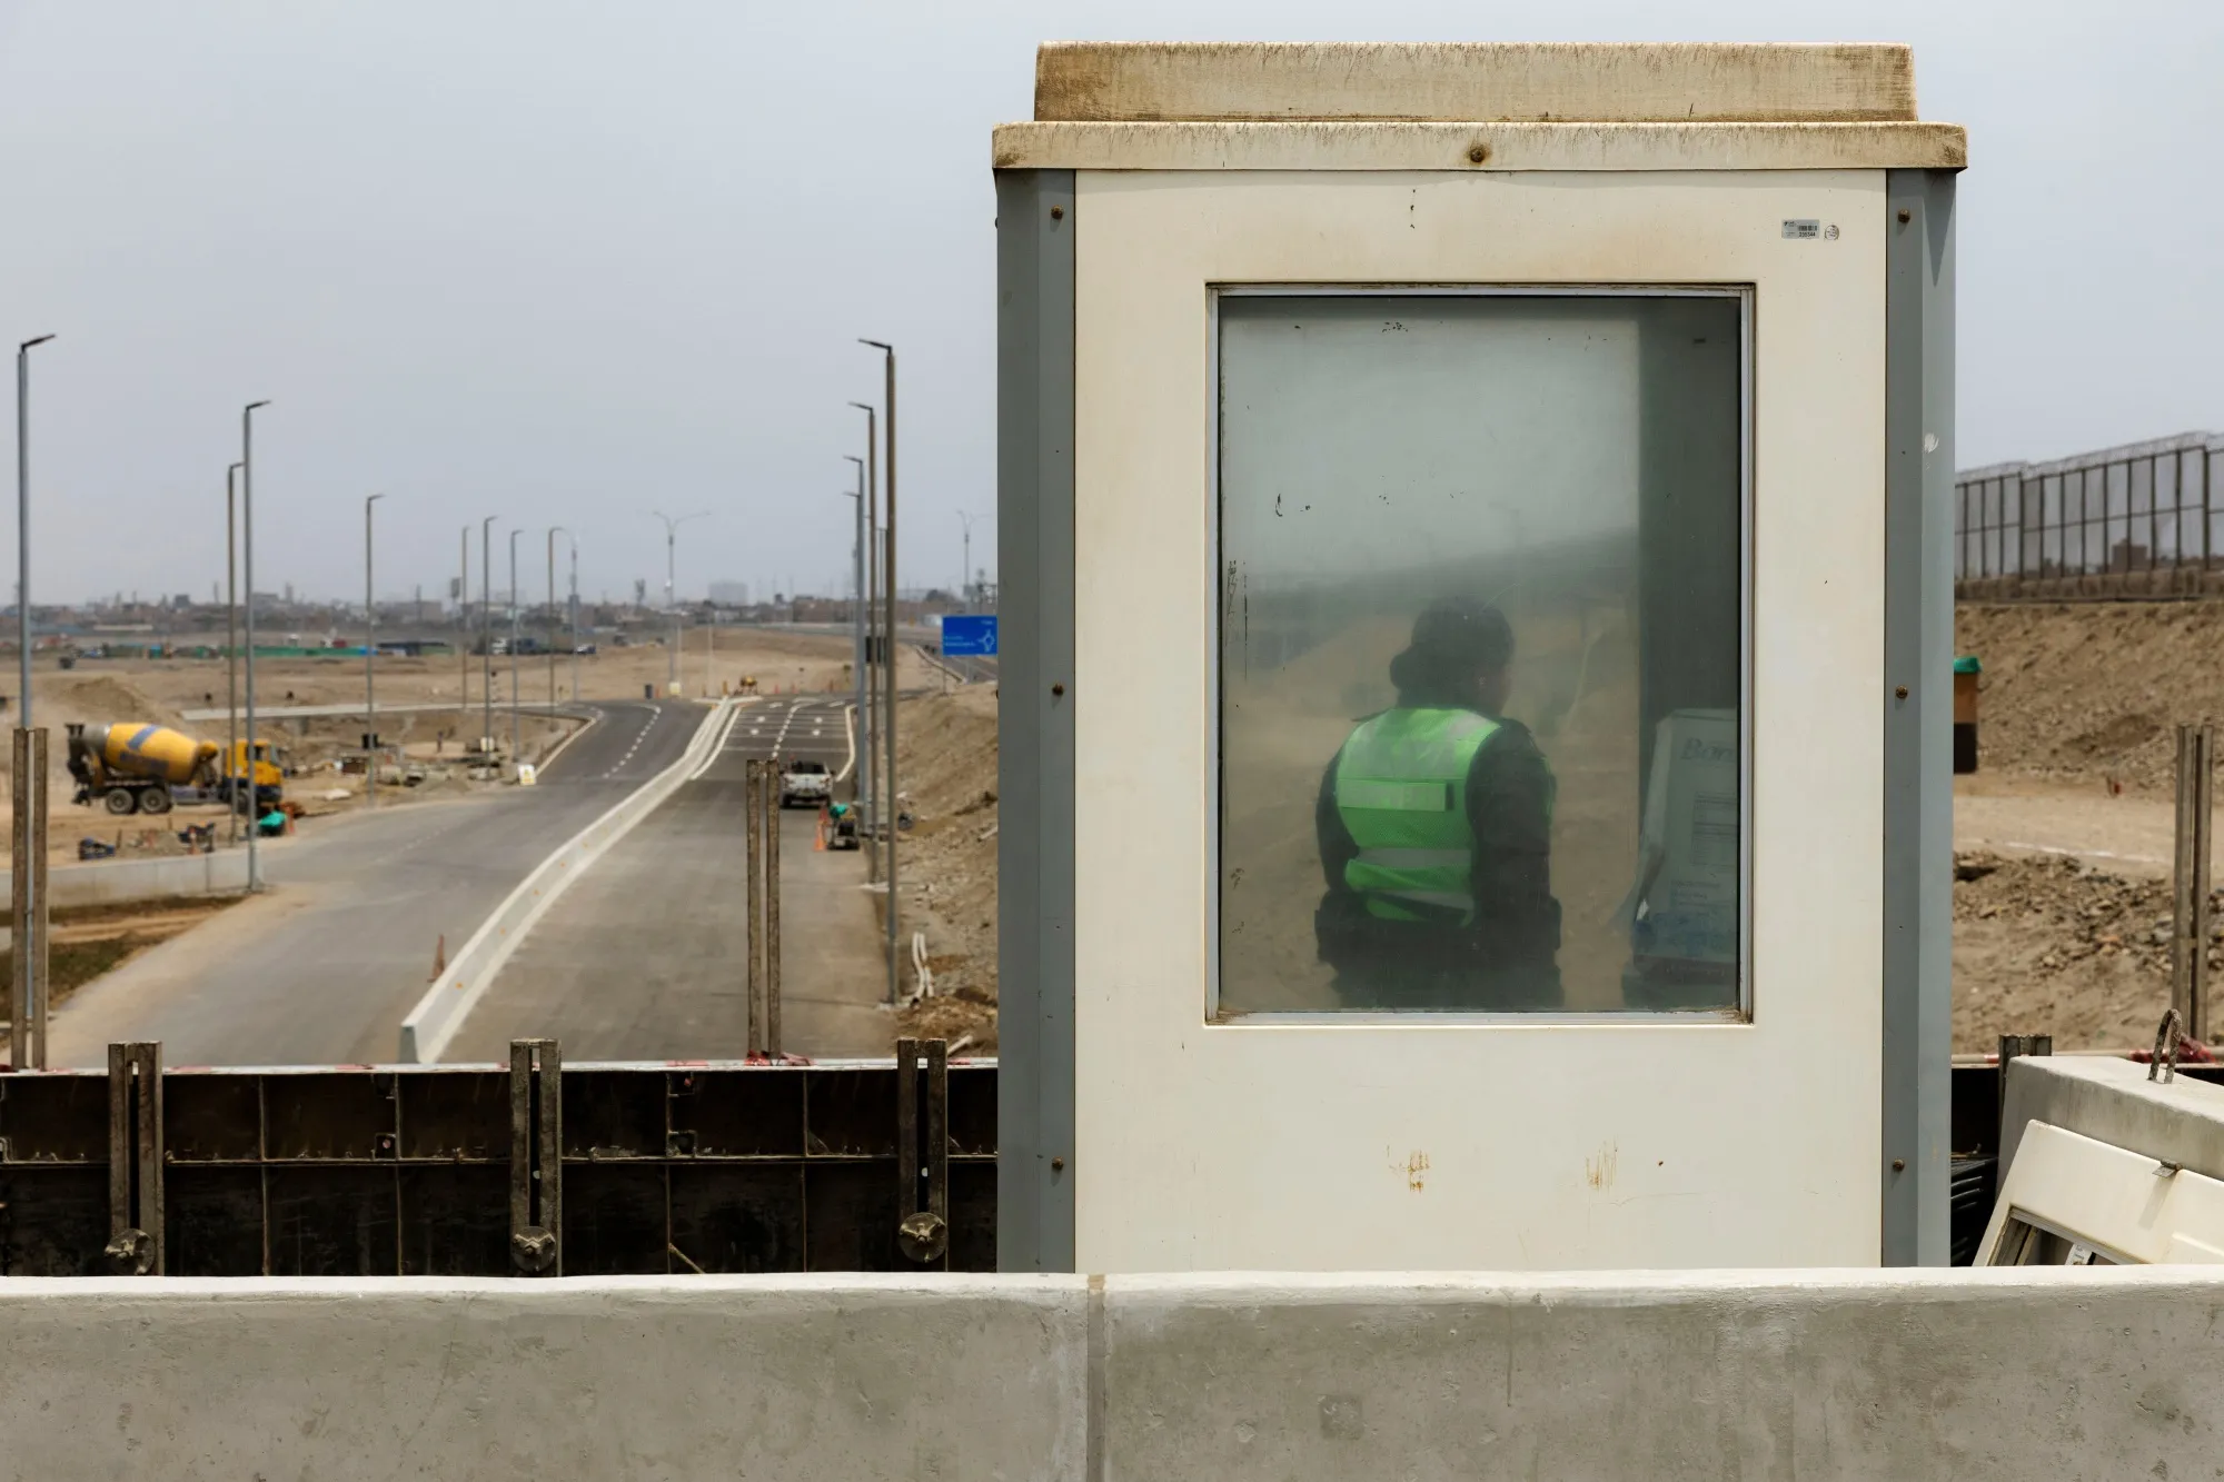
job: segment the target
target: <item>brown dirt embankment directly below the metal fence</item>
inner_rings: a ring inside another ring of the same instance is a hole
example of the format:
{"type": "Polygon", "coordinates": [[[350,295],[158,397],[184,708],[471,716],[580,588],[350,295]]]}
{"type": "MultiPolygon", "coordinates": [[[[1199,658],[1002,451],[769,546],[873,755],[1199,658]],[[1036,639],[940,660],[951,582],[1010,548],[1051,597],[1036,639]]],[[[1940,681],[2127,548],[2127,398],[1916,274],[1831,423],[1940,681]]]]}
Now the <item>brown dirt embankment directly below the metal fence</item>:
{"type": "Polygon", "coordinates": [[[2175,725],[2224,719],[2224,603],[1964,603],[1988,772],[2168,790],[2175,725]]]}

